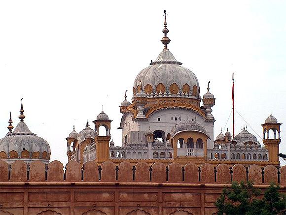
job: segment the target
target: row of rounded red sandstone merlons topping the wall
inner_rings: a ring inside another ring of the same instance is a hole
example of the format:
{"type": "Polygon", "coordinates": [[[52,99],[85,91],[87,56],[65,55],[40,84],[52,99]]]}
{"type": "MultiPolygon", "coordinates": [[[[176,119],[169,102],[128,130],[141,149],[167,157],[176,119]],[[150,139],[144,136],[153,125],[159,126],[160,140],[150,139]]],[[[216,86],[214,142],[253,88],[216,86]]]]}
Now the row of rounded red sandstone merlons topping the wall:
{"type": "Polygon", "coordinates": [[[246,168],[242,164],[214,166],[204,163],[197,166],[188,163],[181,166],[173,162],[166,166],[161,162],[151,166],[139,162],[133,166],[124,161],[116,166],[111,161],[98,165],[89,161],[82,167],[76,161],[64,165],[54,160],[48,165],[33,161],[27,165],[17,160],[11,165],[0,160],[0,182],[110,182],[110,183],[179,183],[179,184],[230,184],[231,181],[252,181],[254,184],[271,182],[286,185],[286,166],[277,169],[273,165],[260,167],[252,164],[246,168]]]}

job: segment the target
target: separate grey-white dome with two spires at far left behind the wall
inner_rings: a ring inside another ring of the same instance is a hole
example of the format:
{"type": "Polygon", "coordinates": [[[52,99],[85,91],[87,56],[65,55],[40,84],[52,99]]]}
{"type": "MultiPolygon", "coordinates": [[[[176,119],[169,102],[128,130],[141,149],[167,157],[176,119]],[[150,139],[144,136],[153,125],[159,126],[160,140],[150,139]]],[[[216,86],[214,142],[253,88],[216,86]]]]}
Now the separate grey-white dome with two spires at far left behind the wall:
{"type": "Polygon", "coordinates": [[[21,103],[20,122],[17,124],[13,132],[12,119],[10,115],[9,132],[0,139],[0,159],[8,163],[15,160],[23,160],[26,163],[31,163],[33,160],[41,160],[48,163],[50,159],[50,146],[43,138],[36,136],[24,123],[24,109],[21,103]]]}

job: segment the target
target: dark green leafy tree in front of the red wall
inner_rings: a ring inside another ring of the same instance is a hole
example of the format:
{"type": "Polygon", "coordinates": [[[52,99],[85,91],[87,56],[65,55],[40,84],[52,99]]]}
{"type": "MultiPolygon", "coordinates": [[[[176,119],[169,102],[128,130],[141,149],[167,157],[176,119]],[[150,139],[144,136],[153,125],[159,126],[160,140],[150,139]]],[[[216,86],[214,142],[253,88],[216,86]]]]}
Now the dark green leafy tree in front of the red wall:
{"type": "Polygon", "coordinates": [[[279,189],[279,185],[270,184],[259,199],[261,190],[253,187],[253,183],[233,182],[223,189],[214,205],[218,215],[285,215],[286,198],[279,189]]]}

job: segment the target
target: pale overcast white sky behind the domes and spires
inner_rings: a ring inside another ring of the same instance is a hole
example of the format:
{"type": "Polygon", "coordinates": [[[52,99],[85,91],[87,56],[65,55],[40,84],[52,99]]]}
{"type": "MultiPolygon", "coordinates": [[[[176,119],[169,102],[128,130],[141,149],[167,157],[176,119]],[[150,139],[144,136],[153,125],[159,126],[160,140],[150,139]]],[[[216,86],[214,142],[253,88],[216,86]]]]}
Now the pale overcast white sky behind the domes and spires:
{"type": "MultiPolygon", "coordinates": [[[[286,1],[0,1],[0,137],[10,111],[19,122],[24,97],[24,121],[50,144],[51,161],[67,162],[72,125],[93,127],[102,105],[121,146],[118,106],[163,49],[164,9],[169,50],[195,73],[201,96],[211,81],[214,137],[231,111],[233,71],[236,109],[260,137],[270,110],[286,123],[286,1]]],[[[246,123],[235,119],[237,134],[246,123]]]]}

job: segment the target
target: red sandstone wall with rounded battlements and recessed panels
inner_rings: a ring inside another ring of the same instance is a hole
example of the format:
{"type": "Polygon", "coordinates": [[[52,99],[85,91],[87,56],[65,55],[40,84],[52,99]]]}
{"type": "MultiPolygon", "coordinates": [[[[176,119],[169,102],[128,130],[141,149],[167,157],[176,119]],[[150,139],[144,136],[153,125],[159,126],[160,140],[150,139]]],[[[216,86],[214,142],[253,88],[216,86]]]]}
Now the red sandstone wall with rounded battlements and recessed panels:
{"type": "Polygon", "coordinates": [[[27,168],[23,161],[9,167],[0,160],[0,215],[208,215],[232,180],[261,188],[279,182],[285,192],[286,166],[91,161],[81,168],[71,161],[64,171],[59,161],[47,167],[34,161],[27,168]]]}

